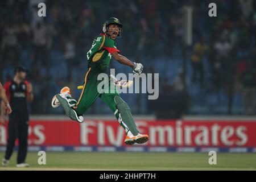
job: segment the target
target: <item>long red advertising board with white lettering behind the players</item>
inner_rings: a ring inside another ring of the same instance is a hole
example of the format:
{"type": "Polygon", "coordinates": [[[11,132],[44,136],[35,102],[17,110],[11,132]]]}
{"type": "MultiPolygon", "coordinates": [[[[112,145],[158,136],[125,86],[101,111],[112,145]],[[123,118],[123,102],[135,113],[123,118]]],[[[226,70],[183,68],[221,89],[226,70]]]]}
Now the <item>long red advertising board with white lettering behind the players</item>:
{"type": "MultiPolygon", "coordinates": [[[[256,121],[137,121],[147,146],[256,147],[256,121]]],[[[117,121],[31,121],[32,146],[125,146],[125,131],[117,121]]],[[[0,125],[0,146],[7,143],[7,127],[0,125]]]]}

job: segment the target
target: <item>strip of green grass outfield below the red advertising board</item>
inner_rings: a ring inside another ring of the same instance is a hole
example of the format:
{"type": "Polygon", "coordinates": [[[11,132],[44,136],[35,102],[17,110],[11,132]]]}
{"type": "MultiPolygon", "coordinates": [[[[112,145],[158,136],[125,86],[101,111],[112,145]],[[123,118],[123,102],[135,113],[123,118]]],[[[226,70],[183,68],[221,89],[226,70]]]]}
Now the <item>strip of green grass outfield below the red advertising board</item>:
{"type": "Polygon", "coordinates": [[[38,157],[28,152],[30,167],[16,168],[15,152],[0,170],[256,170],[256,154],[217,153],[216,165],[208,163],[206,152],[47,152],[46,165],[39,165],[38,157]]]}

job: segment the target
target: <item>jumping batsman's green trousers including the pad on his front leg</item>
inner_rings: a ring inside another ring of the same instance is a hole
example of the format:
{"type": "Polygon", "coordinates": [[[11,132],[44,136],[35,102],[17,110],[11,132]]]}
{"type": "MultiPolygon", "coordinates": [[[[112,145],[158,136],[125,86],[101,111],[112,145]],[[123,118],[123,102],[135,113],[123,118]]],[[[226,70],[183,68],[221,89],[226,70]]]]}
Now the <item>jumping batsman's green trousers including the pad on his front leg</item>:
{"type": "Polygon", "coordinates": [[[78,115],[84,114],[86,110],[88,110],[89,107],[92,106],[92,104],[97,100],[97,98],[100,97],[101,100],[113,111],[115,118],[118,119],[118,122],[123,129],[125,129],[126,133],[130,130],[131,133],[137,135],[139,131],[131,115],[130,108],[121,98],[119,98],[119,93],[116,87],[113,85],[110,77],[108,86],[106,88],[102,88],[103,90],[108,90],[108,93],[98,92],[98,84],[102,82],[102,80],[97,80],[99,74],[99,72],[92,71],[91,68],[89,68],[88,72],[86,72],[84,88],[82,89],[82,93],[77,101],[77,104],[73,107],[76,113],[78,115]],[[118,102],[124,102],[126,106],[123,107],[123,104],[121,104],[122,106],[118,109],[117,100],[118,102]]]}

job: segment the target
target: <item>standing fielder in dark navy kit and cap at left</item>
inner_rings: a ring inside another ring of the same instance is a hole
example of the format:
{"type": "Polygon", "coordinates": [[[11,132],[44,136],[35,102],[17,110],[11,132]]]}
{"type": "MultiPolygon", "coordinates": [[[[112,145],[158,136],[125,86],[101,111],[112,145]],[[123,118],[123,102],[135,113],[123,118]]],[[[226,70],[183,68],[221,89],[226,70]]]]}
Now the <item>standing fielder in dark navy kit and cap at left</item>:
{"type": "MultiPolygon", "coordinates": [[[[13,154],[15,140],[19,139],[19,150],[16,167],[28,167],[25,163],[27,156],[27,137],[28,137],[28,101],[32,102],[32,85],[26,81],[27,70],[24,67],[15,69],[13,80],[6,82],[4,88],[9,99],[13,112],[9,115],[8,139],[5,158],[2,166],[7,166],[13,154]]],[[[1,117],[4,117],[1,115],[1,117]]]]}

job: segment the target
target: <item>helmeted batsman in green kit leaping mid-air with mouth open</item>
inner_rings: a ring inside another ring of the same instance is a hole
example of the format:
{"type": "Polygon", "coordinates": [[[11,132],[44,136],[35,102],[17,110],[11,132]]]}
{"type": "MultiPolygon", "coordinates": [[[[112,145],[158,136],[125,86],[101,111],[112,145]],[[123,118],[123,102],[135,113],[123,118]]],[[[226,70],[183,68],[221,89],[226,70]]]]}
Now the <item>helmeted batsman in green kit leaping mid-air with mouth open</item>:
{"type": "MultiPolygon", "coordinates": [[[[101,80],[97,80],[97,77],[100,73],[106,73],[112,56],[119,63],[133,68],[134,73],[139,75],[142,73],[143,65],[141,63],[133,63],[125,56],[119,55],[120,51],[116,47],[115,39],[122,35],[122,26],[117,18],[106,20],[103,25],[104,34],[98,35],[93,40],[92,48],[87,53],[88,71],[79,100],[73,99],[70,89],[65,86],[61,89],[60,94],[56,94],[52,98],[52,107],[61,105],[69,118],[81,123],[84,121],[82,114],[100,97],[125,129],[127,135],[125,143],[129,145],[141,144],[147,142],[148,135],[139,133],[129,106],[122,100],[117,90],[114,88],[114,92],[110,93],[99,93],[97,90],[97,86],[101,82],[101,80]]],[[[111,79],[109,78],[109,80],[111,79]]],[[[113,89],[110,84],[112,83],[109,81],[109,88],[106,89],[113,89]]]]}

